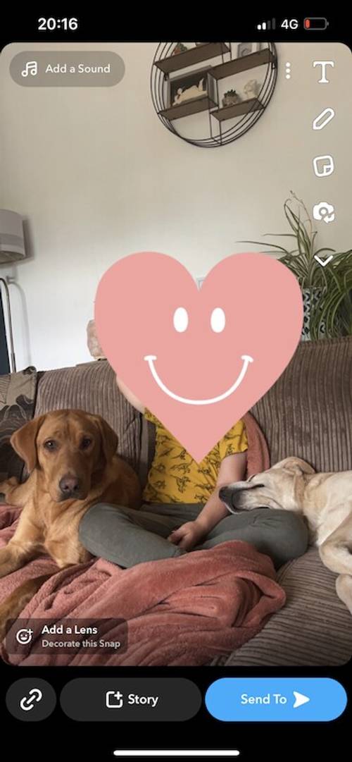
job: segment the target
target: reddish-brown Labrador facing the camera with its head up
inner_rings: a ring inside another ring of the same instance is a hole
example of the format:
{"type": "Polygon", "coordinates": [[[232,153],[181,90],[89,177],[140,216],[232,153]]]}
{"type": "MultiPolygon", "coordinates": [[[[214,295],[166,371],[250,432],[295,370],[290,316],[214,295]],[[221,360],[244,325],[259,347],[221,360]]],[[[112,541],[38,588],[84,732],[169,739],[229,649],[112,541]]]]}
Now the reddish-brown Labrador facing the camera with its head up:
{"type": "MultiPolygon", "coordinates": [[[[82,410],[40,415],[12,434],[30,475],[23,484],[0,482],[6,502],[23,509],[14,536],[0,549],[0,577],[43,553],[59,568],[86,562],[90,554],[78,540],[78,525],[87,508],[99,501],[140,507],[138,477],[116,455],[117,441],[100,415],[82,410]]],[[[0,605],[0,637],[49,576],[25,582],[0,605]]]]}

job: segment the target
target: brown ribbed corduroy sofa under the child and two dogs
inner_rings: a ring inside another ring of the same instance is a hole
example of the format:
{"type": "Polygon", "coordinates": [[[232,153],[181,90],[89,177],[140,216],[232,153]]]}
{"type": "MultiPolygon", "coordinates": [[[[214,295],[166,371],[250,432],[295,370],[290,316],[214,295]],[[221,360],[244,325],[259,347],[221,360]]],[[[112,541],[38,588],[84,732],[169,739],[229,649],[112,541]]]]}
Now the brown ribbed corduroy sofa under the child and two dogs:
{"type": "MultiPolygon", "coordinates": [[[[352,338],[300,344],[277,383],[252,408],[271,463],[303,457],[318,471],[352,469],[352,338]]],[[[154,427],[122,397],[106,360],[40,373],[33,415],[55,408],[99,413],[119,436],[119,452],[144,482],[154,427]]],[[[214,664],[337,665],[352,654],[352,618],[335,593],[335,575],[310,548],[278,572],[287,604],[262,632],[214,664]]]]}

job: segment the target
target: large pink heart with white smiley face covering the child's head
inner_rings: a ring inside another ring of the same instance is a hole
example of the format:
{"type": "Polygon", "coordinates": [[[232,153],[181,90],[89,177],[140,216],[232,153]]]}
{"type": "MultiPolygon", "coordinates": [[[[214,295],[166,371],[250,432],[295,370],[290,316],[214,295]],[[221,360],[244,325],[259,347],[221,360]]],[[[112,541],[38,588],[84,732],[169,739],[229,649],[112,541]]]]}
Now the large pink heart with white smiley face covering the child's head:
{"type": "Polygon", "coordinates": [[[141,251],[103,275],[95,322],[116,374],[199,463],[289,363],[303,303],[268,255],[227,257],[198,290],[179,261],[141,251]]]}

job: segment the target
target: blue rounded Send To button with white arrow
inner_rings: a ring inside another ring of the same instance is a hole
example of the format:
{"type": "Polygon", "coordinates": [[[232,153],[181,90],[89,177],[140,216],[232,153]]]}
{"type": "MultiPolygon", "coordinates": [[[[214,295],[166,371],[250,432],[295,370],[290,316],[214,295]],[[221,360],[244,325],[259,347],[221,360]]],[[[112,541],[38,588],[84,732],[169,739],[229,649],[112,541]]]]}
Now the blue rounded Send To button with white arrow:
{"type": "Polygon", "coordinates": [[[224,722],[328,722],[347,694],[330,677],[223,677],[205,694],[205,706],[224,722]]]}

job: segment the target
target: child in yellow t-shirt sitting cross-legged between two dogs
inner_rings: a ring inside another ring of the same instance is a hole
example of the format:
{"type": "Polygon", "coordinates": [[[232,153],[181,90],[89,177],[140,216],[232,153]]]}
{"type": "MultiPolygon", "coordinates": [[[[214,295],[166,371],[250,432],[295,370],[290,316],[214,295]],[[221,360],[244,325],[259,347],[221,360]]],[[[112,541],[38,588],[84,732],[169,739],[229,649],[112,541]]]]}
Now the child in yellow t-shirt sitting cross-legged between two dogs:
{"type": "Polygon", "coordinates": [[[252,543],[279,568],[306,551],[308,530],[296,514],[269,508],[229,514],[220,501],[222,486],[246,477],[243,421],[196,463],[122,381],[116,381],[128,402],[155,424],[155,454],[138,511],[97,503],[84,514],[79,536],[90,553],[129,568],[237,539],[252,543]]]}

